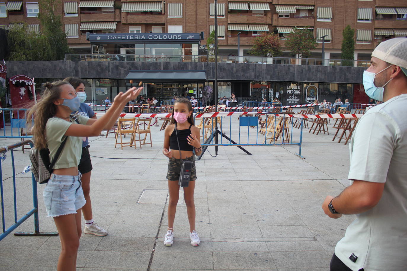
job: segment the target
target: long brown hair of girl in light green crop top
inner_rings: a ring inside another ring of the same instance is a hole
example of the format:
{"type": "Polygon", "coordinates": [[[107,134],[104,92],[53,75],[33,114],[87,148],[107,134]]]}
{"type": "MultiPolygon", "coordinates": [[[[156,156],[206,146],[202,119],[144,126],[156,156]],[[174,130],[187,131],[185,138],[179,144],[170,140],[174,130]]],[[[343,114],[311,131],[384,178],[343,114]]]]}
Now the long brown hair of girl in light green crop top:
{"type": "Polygon", "coordinates": [[[46,82],[44,84],[46,89],[42,94],[41,100],[27,112],[27,126],[32,125],[33,119],[35,121],[31,132],[35,139],[34,145],[38,149],[43,149],[47,146],[45,126],[48,119],[54,117],[57,113],[57,105],[54,102],[61,98],[61,89],[64,85],[69,85],[69,83],[62,81],[46,82]]]}

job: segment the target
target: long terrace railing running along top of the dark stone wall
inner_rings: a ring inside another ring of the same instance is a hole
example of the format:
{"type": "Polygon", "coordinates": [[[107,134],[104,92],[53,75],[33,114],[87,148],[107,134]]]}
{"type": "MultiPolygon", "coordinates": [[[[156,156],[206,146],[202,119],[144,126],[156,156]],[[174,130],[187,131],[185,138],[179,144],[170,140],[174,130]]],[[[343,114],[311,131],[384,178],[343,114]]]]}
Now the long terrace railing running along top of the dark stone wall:
{"type": "MultiPolygon", "coordinates": [[[[66,61],[214,62],[207,55],[65,54],[66,61]]],[[[293,57],[218,56],[218,63],[369,67],[367,60],[297,59],[293,57]]]]}

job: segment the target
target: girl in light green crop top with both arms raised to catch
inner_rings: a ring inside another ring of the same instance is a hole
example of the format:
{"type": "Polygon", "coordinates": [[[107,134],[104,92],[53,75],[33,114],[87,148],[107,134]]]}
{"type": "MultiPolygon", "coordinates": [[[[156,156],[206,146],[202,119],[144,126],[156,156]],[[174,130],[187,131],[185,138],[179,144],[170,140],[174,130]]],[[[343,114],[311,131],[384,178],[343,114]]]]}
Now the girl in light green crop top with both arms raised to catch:
{"type": "Polygon", "coordinates": [[[53,159],[61,142],[66,143],[44,188],[44,203],[49,217],[54,218],[61,239],[61,254],[57,270],[75,270],[79,238],[81,237],[81,208],[85,204],[78,171],[81,158],[81,137],[98,136],[103,129],[112,128],[129,100],[134,100],[142,87],[119,92],[114,103],[100,119],[77,116],[79,124],[70,117],[77,111],[80,100],[67,82],[46,82],[41,100],[27,112],[35,147],[50,150],[53,159]]]}

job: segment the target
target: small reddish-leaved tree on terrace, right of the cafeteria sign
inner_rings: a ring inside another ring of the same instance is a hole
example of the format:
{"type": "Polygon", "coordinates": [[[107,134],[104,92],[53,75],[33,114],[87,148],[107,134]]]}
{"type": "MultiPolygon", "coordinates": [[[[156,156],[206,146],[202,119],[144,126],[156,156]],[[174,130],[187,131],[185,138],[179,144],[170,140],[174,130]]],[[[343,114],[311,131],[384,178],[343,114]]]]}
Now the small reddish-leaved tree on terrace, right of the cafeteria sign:
{"type": "Polygon", "coordinates": [[[261,33],[253,38],[253,47],[249,54],[256,56],[277,56],[281,54],[280,37],[277,34],[261,33]]]}

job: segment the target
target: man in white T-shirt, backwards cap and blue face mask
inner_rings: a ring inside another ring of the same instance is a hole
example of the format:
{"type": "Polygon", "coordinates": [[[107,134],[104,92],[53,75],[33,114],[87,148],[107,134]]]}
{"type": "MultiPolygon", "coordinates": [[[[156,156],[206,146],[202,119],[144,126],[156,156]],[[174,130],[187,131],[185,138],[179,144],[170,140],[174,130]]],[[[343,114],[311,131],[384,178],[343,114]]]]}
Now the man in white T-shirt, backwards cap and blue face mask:
{"type": "Polygon", "coordinates": [[[363,86],[384,103],[365,113],[353,133],[350,186],[322,205],[332,218],[357,215],[335,247],[330,270],[406,270],[407,38],[376,47],[363,86]]]}

